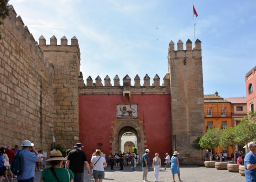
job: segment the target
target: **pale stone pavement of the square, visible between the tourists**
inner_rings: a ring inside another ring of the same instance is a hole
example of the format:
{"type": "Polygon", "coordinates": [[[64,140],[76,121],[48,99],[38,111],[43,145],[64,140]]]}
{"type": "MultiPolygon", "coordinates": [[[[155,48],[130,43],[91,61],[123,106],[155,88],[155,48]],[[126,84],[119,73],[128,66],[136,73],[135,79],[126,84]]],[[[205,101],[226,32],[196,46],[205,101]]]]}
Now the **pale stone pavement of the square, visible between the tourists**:
{"type": "MultiPolygon", "coordinates": [[[[143,182],[141,166],[132,171],[130,167],[125,167],[124,171],[114,168],[111,171],[108,167],[105,171],[103,182],[143,182]]],[[[181,166],[180,176],[183,182],[245,182],[245,178],[239,173],[230,173],[227,170],[217,170],[215,168],[205,168],[198,166],[181,166]]],[[[36,171],[34,182],[40,182],[41,172],[36,171]]],[[[177,175],[175,176],[177,181],[177,175]]],[[[84,175],[84,182],[93,182],[92,176],[84,175]]],[[[154,171],[152,168],[148,171],[148,181],[154,182],[154,171]]],[[[164,170],[160,168],[159,182],[172,182],[172,173],[170,168],[164,170]]],[[[4,180],[5,182],[5,180],[4,180]]]]}

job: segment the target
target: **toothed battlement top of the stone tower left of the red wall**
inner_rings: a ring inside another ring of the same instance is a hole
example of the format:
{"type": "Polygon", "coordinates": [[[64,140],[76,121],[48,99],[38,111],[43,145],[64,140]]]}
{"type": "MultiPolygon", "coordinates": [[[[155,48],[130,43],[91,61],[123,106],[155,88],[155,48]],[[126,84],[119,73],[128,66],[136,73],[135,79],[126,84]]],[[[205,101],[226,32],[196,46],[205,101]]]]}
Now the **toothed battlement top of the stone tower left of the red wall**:
{"type": "Polygon", "coordinates": [[[44,51],[60,51],[60,52],[77,52],[80,65],[80,48],[76,36],[71,38],[71,44],[68,45],[68,40],[65,36],[61,37],[61,45],[58,45],[57,38],[53,35],[50,38],[50,44],[46,44],[46,39],[43,35],[39,37],[39,46],[44,48],[44,51]],[[55,48],[54,48],[55,47],[55,48]]]}

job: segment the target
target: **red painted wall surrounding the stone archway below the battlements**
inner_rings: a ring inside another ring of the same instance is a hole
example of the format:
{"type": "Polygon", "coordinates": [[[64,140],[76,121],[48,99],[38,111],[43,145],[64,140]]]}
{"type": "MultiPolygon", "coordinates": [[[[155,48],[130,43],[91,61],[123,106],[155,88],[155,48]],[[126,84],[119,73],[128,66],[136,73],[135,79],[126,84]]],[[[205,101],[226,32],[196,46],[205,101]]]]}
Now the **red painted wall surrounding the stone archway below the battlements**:
{"type": "MultiPolygon", "coordinates": [[[[96,148],[108,158],[111,121],[116,119],[116,104],[130,103],[122,99],[122,95],[79,95],[79,137],[89,159],[96,148]],[[98,143],[103,145],[98,146],[98,143]]],[[[138,104],[139,119],[144,120],[150,159],[156,152],[163,159],[166,152],[172,152],[170,95],[138,94],[131,95],[131,100],[132,104],[138,104]]]]}

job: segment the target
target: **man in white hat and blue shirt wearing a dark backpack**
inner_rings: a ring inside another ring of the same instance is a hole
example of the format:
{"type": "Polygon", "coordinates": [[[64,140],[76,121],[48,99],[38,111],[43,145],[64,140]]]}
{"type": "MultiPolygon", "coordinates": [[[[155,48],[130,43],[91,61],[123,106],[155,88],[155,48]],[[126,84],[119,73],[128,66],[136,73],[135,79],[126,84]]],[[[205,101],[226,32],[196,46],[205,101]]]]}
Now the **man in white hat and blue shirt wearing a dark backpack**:
{"type": "Polygon", "coordinates": [[[33,182],[35,177],[35,162],[41,162],[42,158],[35,150],[34,144],[29,140],[24,140],[20,146],[22,146],[22,150],[17,152],[16,155],[23,158],[24,168],[22,173],[17,176],[18,182],[33,182]]]}

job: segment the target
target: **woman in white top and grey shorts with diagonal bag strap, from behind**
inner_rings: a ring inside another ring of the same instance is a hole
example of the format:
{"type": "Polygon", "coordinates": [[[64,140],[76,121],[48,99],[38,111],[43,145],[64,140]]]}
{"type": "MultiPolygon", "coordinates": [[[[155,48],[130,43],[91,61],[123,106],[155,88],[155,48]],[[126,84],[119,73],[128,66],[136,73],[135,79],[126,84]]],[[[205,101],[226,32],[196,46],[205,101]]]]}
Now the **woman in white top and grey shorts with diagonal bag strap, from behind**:
{"type": "Polygon", "coordinates": [[[104,168],[107,167],[107,162],[99,149],[96,149],[90,165],[93,167],[94,182],[102,182],[105,175],[104,168]]]}

